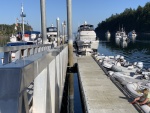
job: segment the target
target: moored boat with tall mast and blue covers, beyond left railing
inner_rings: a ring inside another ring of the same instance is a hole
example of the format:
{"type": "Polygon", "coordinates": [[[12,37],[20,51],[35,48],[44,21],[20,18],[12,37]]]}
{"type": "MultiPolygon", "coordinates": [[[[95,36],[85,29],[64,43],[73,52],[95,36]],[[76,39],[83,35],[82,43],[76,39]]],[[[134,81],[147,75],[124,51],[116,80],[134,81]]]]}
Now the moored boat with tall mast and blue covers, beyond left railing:
{"type": "MultiPolygon", "coordinates": [[[[21,7],[21,17],[24,18],[25,14],[23,13],[23,5],[21,7]]],[[[35,45],[35,44],[41,44],[41,34],[39,31],[24,31],[24,19],[22,19],[22,25],[23,29],[22,32],[16,33],[16,35],[13,35],[10,37],[10,42],[7,42],[6,46],[24,46],[24,45],[35,45]]],[[[16,60],[16,52],[11,52],[12,60],[16,60]]]]}

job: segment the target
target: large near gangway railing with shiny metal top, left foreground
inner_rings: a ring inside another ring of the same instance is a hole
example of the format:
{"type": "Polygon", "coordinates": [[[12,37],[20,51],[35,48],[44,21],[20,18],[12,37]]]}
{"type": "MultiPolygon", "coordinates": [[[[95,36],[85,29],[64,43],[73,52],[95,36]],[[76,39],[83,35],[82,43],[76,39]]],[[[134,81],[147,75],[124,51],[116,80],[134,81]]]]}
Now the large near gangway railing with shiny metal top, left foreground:
{"type": "Polygon", "coordinates": [[[46,45],[4,47],[0,51],[7,53],[27,48],[34,49],[32,55],[0,65],[0,111],[58,113],[66,77],[68,46],[47,50],[46,45]]]}

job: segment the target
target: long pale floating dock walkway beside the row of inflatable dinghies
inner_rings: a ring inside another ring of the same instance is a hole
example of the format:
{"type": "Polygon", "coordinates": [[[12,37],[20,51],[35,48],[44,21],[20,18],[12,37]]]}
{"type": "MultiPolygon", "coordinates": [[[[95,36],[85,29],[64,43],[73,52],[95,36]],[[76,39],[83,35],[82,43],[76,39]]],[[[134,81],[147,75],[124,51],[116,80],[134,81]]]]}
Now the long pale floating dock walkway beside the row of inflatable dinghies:
{"type": "Polygon", "coordinates": [[[141,113],[92,58],[77,58],[82,102],[86,113],[141,113]]]}

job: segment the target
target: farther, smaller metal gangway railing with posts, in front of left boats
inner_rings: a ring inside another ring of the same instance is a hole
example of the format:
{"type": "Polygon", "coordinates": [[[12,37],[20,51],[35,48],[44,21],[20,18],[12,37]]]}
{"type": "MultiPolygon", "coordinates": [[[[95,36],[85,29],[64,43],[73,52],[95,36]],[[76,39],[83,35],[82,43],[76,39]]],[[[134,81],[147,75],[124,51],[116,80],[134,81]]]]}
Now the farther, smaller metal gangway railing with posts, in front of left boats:
{"type": "Polygon", "coordinates": [[[0,52],[4,52],[3,63],[8,64],[12,61],[22,59],[24,57],[34,55],[38,52],[51,49],[50,44],[41,45],[22,45],[22,46],[5,46],[0,47],[0,52]],[[15,53],[15,58],[12,58],[12,54],[15,53]]]}

